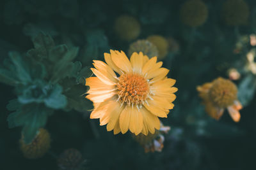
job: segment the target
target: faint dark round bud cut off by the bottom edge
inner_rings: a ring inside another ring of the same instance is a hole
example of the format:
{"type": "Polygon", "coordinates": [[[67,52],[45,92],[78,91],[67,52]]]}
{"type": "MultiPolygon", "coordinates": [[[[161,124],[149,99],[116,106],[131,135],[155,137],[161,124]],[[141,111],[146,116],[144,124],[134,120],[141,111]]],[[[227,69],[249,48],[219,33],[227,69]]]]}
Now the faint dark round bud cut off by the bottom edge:
{"type": "Polygon", "coordinates": [[[83,157],[79,150],[69,148],[60,154],[57,161],[61,170],[78,170],[83,164],[83,157]]]}

